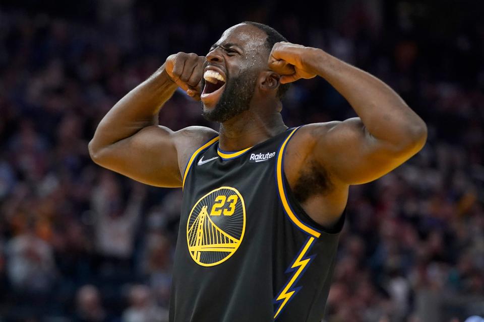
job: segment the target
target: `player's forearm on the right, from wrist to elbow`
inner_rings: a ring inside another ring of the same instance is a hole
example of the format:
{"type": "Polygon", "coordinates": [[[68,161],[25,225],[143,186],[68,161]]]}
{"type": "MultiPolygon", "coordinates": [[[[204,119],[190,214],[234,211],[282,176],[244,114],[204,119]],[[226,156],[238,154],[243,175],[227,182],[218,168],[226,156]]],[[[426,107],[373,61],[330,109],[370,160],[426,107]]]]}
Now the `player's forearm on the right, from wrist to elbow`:
{"type": "Polygon", "coordinates": [[[389,86],[321,49],[310,50],[309,68],[349,102],[372,136],[395,146],[425,142],[425,123],[389,86]]]}

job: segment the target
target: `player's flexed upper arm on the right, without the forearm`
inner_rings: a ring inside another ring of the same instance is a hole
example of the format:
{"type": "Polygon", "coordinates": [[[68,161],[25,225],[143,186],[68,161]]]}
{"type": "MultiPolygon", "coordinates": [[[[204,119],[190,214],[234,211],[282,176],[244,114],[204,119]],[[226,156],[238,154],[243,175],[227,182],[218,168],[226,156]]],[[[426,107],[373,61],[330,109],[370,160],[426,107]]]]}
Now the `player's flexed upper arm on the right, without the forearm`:
{"type": "Polygon", "coordinates": [[[345,184],[363,184],[376,180],[411,156],[371,135],[359,118],[319,126],[315,156],[332,175],[345,184]]]}

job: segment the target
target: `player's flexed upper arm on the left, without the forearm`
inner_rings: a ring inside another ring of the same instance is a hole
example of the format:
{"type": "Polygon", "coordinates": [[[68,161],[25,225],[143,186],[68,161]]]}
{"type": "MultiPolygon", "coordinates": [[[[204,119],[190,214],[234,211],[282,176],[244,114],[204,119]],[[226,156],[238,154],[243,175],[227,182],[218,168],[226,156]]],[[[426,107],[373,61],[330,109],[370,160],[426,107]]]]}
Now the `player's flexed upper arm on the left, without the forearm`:
{"type": "Polygon", "coordinates": [[[181,187],[175,133],[163,126],[145,127],[104,147],[98,164],[148,185],[181,187]]]}

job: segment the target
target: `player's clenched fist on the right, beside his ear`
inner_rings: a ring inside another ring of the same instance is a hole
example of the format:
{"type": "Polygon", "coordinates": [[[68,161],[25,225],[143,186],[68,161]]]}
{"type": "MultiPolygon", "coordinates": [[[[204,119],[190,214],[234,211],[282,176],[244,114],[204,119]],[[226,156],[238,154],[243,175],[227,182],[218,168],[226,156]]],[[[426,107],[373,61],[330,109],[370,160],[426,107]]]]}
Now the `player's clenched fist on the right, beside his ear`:
{"type": "Polygon", "coordinates": [[[308,64],[315,48],[277,42],[269,55],[269,68],[281,75],[281,84],[291,83],[300,78],[313,78],[316,73],[311,71],[308,64]]]}

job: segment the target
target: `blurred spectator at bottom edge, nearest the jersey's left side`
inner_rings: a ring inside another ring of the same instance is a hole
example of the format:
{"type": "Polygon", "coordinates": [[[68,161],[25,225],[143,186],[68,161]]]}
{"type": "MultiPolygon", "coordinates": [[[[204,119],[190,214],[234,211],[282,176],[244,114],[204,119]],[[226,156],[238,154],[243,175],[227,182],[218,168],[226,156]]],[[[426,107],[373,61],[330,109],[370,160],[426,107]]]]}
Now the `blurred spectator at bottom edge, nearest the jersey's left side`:
{"type": "Polygon", "coordinates": [[[168,322],[168,310],[156,305],[146,285],[134,285],[129,294],[130,306],[123,322],[168,322]]]}

